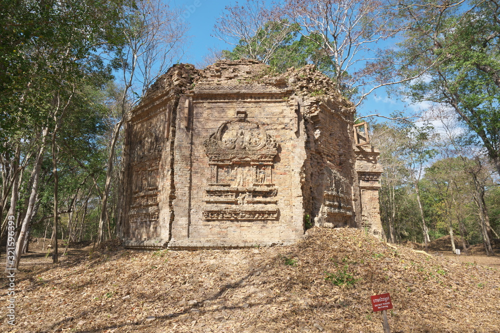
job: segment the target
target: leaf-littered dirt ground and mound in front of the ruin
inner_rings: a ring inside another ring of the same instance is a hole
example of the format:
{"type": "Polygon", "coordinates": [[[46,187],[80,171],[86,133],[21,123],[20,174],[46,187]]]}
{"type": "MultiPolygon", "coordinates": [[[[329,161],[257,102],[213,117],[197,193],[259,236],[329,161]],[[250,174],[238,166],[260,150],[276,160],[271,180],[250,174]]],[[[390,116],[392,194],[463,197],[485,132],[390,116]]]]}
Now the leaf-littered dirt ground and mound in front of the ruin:
{"type": "Polygon", "coordinates": [[[386,292],[393,333],[500,327],[496,258],[428,256],[357,229],[313,228],[292,246],[242,250],[80,244],[58,265],[35,243],[15,277],[15,325],[1,332],[381,333],[369,297],[386,292]]]}

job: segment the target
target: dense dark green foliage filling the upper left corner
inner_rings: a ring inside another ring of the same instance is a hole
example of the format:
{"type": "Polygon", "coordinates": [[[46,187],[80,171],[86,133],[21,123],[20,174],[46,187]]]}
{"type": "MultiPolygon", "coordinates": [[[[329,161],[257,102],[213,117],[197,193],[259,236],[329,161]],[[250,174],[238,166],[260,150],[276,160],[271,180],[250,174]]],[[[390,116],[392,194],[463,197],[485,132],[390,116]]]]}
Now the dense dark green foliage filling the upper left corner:
{"type": "Polygon", "coordinates": [[[133,5],[128,0],[2,3],[1,132],[12,135],[46,121],[54,102],[67,101],[73,84],[99,87],[109,80],[110,64],[99,54],[123,43],[123,7],[133,5]]]}

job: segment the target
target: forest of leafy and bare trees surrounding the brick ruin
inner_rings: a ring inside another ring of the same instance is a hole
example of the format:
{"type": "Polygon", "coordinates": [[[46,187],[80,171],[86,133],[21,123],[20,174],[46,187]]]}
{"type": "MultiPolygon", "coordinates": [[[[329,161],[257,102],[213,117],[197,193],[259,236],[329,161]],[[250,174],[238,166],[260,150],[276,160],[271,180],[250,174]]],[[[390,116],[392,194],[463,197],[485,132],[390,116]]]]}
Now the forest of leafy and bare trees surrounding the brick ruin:
{"type": "MultiPolygon", "coordinates": [[[[29,237],[50,235],[57,263],[60,244],[120,235],[123,124],[147,87],[184,59],[188,18],[201,2],[0,4],[0,236],[16,244],[6,265],[17,267],[29,237]]],[[[213,18],[223,49],[196,65],[315,64],[356,106],[355,121],[370,123],[387,241],[426,247],[449,234],[450,251],[482,243],[493,255],[499,12],[494,0],[234,2],[213,18]],[[390,115],[370,113],[375,94],[401,102],[390,115]]]]}

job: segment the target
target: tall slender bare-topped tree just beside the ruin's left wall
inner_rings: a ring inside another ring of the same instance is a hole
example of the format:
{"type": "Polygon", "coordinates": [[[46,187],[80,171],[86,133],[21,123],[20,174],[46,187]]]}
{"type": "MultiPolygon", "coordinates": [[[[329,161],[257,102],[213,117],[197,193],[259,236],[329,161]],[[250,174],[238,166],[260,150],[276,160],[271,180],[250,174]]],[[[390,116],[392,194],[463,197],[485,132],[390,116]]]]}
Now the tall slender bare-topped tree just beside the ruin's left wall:
{"type": "MultiPolygon", "coordinates": [[[[106,176],[101,192],[101,213],[96,245],[104,241],[107,227],[110,236],[108,201],[113,180],[115,151],[123,123],[146,89],[183,52],[187,26],[175,9],[160,0],[141,1],[124,15],[119,35],[126,40],[113,59],[120,70],[121,92],[111,110],[112,131],[109,135],[106,176]]],[[[121,188],[118,187],[118,191],[121,188]]]]}

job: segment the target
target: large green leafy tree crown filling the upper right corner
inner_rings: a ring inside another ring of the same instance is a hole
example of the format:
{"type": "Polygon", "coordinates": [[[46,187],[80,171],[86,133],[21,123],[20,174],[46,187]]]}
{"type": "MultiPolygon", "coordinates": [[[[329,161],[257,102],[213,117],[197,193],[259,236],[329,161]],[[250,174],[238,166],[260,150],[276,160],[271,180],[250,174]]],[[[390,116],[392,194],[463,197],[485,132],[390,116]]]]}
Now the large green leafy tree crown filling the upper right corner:
{"type": "Polygon", "coordinates": [[[407,96],[451,108],[500,174],[500,6],[494,0],[400,4],[412,28],[395,54],[413,75],[407,96]],[[422,50],[424,50],[422,52],[422,50]],[[411,61],[409,61],[411,60],[411,61]]]}

